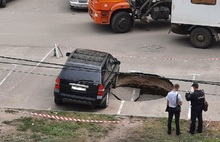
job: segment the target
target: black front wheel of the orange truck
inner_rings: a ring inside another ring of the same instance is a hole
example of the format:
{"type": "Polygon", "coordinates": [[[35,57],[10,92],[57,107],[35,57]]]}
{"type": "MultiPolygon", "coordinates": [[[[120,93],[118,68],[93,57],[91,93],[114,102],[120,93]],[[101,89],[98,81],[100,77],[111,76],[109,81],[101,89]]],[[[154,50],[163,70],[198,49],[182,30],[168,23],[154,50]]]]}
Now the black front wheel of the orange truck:
{"type": "Polygon", "coordinates": [[[126,33],[131,30],[132,17],[128,12],[118,12],[111,20],[111,28],[115,33],[126,33]]]}

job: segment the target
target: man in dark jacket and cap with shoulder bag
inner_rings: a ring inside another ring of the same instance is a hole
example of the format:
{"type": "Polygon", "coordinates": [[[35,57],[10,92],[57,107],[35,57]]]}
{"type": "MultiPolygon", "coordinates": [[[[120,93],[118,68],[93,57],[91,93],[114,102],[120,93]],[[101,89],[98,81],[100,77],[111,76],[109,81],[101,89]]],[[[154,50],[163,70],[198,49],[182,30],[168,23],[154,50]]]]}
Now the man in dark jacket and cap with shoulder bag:
{"type": "Polygon", "coordinates": [[[202,108],[204,105],[204,91],[199,90],[199,84],[197,82],[193,82],[192,87],[194,92],[186,93],[186,100],[191,101],[191,125],[189,133],[195,133],[196,127],[196,118],[198,118],[198,133],[202,133],[203,129],[203,119],[202,119],[202,108]]]}

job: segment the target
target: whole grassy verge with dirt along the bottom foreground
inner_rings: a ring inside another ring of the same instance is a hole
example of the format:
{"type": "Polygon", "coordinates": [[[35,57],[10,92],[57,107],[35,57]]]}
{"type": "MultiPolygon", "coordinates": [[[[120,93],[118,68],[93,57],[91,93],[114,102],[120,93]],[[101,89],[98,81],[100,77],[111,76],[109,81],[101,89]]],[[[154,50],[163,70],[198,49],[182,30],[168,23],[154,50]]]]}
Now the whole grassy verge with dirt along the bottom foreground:
{"type": "MultiPolygon", "coordinates": [[[[54,112],[50,112],[54,114],[54,112]]],[[[93,120],[116,120],[115,116],[95,115],[89,113],[70,113],[58,112],[59,116],[71,118],[89,118],[93,120]]],[[[172,123],[172,134],[167,134],[167,118],[128,118],[129,120],[141,123],[138,128],[122,131],[126,133],[124,137],[120,137],[116,142],[220,142],[220,123],[212,122],[209,127],[204,127],[202,134],[191,135],[187,131],[190,121],[180,120],[180,128],[182,134],[176,136],[175,123],[172,123]],[[140,121],[141,120],[141,121],[140,121]]],[[[13,121],[4,121],[4,124],[16,126],[21,134],[13,137],[4,138],[7,141],[23,142],[69,142],[69,141],[88,141],[90,139],[100,140],[105,137],[109,131],[118,130],[118,127],[124,127],[116,124],[99,124],[99,123],[83,123],[74,121],[57,121],[54,119],[36,119],[31,117],[22,117],[13,121]]],[[[129,124],[123,124],[129,125],[129,124]]],[[[204,126],[206,122],[204,122],[204,126]]],[[[126,127],[125,127],[126,128],[126,127]]],[[[120,132],[119,132],[120,133],[120,132]]],[[[119,134],[123,135],[123,134],[119,134]]],[[[110,139],[111,140],[111,139],[110,139]]],[[[114,140],[115,141],[115,140],[114,140]]]]}

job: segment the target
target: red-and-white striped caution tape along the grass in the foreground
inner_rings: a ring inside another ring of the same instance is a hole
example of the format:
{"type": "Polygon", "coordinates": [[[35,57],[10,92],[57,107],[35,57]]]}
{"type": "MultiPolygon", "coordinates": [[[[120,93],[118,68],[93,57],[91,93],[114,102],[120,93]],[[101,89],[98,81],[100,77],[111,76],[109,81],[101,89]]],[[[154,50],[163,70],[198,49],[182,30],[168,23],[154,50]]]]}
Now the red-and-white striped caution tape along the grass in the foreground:
{"type": "Polygon", "coordinates": [[[88,123],[120,123],[121,121],[107,121],[107,120],[92,120],[92,119],[77,119],[77,118],[70,118],[70,117],[63,117],[58,115],[49,115],[49,114],[41,114],[41,113],[33,113],[33,112],[23,112],[28,113],[34,116],[48,118],[48,119],[55,119],[61,121],[74,121],[74,122],[88,122],[88,123]]]}

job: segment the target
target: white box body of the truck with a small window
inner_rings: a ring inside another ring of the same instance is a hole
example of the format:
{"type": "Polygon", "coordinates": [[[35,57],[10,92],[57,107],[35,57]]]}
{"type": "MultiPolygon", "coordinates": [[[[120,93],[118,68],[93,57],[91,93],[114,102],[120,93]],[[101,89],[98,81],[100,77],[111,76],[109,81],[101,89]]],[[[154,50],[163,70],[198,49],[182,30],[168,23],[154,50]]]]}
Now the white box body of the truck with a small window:
{"type": "Polygon", "coordinates": [[[193,4],[191,0],[172,0],[171,23],[220,27],[220,0],[216,5],[193,4]]]}

